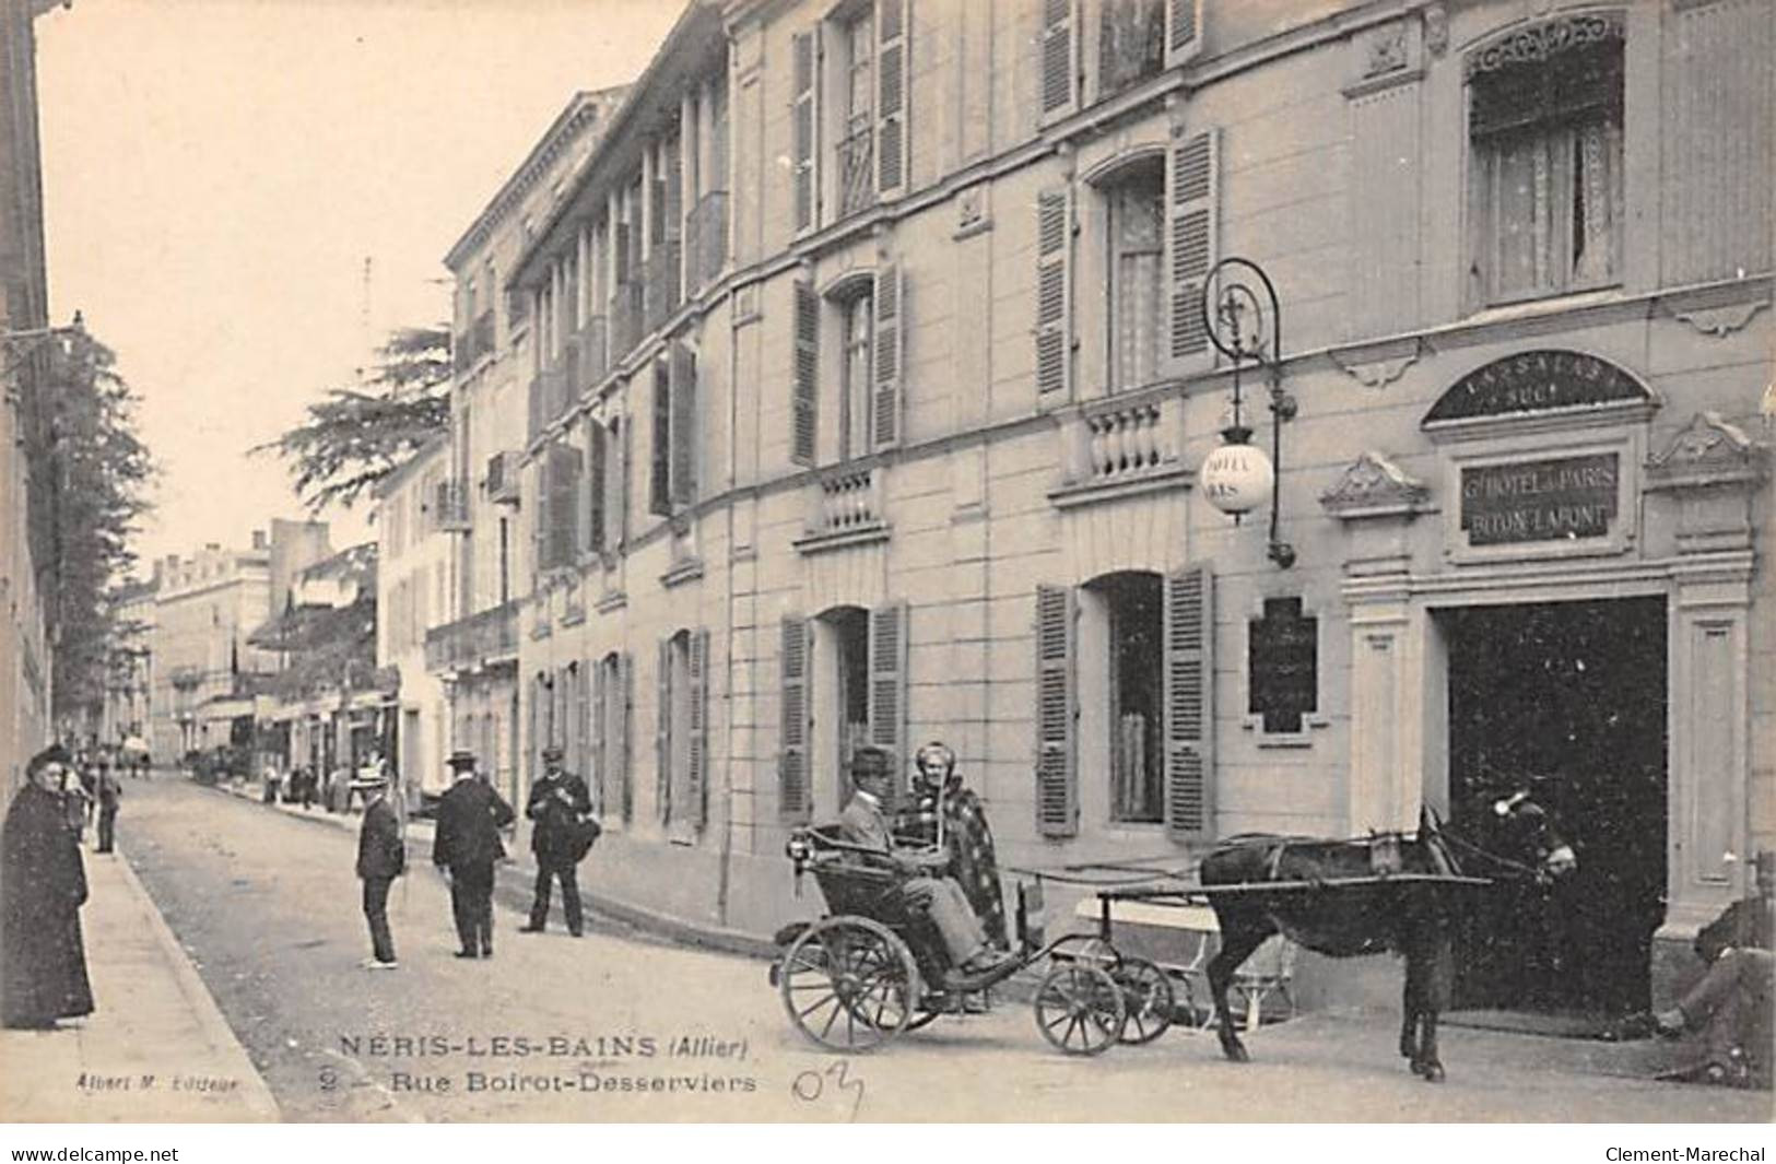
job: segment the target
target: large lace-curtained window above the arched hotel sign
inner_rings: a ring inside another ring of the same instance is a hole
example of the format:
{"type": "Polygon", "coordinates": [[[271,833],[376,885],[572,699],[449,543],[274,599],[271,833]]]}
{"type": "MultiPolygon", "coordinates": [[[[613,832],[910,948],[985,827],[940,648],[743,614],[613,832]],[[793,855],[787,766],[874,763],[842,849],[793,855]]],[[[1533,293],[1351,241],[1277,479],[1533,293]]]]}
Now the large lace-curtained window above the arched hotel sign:
{"type": "Polygon", "coordinates": [[[1591,14],[1469,59],[1472,306],[1620,281],[1621,48],[1591,14]]]}

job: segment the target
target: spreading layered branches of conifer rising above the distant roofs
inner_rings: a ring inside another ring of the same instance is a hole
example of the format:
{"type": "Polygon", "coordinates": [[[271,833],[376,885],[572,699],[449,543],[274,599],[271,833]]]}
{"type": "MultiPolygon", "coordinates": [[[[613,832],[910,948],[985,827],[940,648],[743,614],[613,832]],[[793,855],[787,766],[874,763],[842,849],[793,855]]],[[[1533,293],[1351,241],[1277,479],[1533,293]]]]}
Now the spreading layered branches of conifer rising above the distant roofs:
{"type": "Polygon", "coordinates": [[[300,425],[252,450],[288,462],[311,512],[334,503],[350,508],[449,428],[449,329],[398,329],[377,355],[364,384],[330,389],[300,425]]]}

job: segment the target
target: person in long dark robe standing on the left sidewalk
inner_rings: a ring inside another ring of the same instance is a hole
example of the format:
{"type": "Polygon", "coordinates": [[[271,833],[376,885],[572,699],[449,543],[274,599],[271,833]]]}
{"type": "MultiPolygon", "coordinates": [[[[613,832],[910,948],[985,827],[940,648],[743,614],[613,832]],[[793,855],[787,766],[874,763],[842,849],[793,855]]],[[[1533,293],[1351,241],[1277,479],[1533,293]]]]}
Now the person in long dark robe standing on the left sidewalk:
{"type": "Polygon", "coordinates": [[[7,1027],[48,1029],[57,1018],[92,1013],[80,940],[87,873],[62,800],[52,791],[66,766],[67,752],[60,746],[30,759],[30,782],[12,798],[0,833],[5,855],[0,981],[7,1027]]]}

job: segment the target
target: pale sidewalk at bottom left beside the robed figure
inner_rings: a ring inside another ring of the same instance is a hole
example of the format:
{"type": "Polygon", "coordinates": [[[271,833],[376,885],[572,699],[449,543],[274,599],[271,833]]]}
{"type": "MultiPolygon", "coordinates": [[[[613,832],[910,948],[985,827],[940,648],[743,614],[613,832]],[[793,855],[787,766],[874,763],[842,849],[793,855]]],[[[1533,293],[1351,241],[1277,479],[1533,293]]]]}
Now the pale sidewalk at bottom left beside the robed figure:
{"type": "Polygon", "coordinates": [[[98,1009],[0,1031],[0,1121],[275,1121],[272,1098],[123,851],[85,849],[80,928],[98,1009]]]}

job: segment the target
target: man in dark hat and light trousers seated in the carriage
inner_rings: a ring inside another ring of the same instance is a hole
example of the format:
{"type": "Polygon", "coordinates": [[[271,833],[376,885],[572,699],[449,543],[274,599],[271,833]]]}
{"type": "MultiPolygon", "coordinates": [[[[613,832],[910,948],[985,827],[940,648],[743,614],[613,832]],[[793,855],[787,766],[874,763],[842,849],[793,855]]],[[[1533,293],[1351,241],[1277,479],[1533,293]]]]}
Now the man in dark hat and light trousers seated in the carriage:
{"type": "Polygon", "coordinates": [[[943,876],[950,855],[947,849],[895,849],[883,800],[888,798],[893,777],[888,755],[881,748],[858,748],[851,761],[851,778],[856,793],[838,817],[840,832],[851,844],[881,851],[895,869],[906,874],[900,897],[911,910],[925,913],[950,954],[950,965],[963,976],[986,974],[1012,958],[987,944],[980,919],[963,887],[943,876]]]}

